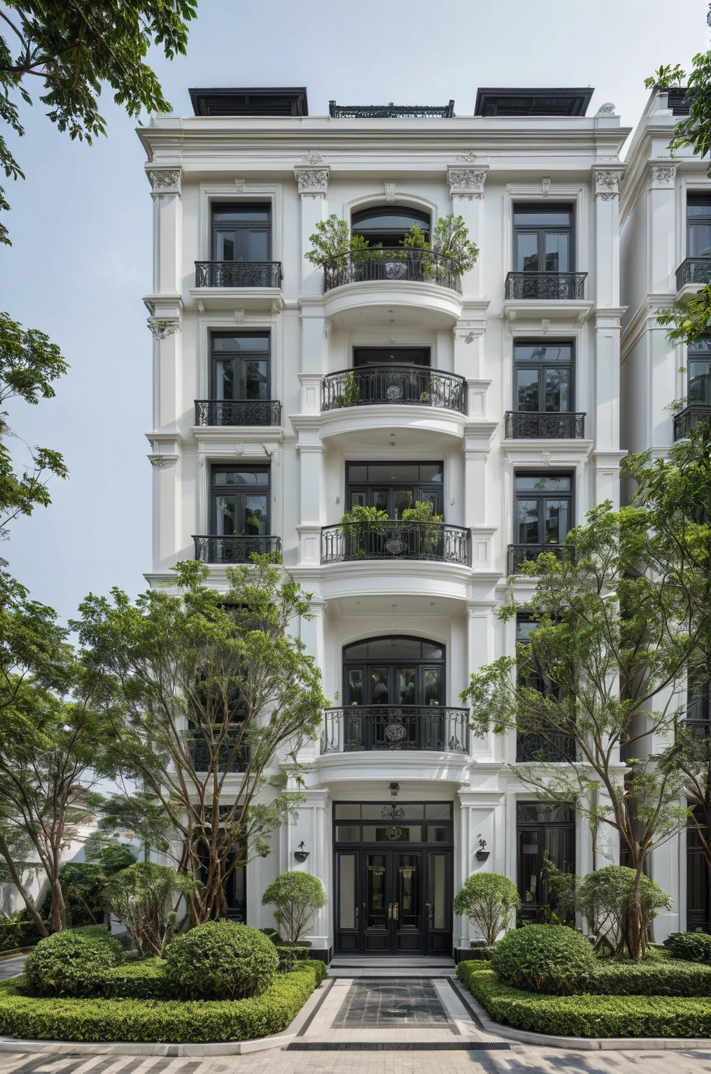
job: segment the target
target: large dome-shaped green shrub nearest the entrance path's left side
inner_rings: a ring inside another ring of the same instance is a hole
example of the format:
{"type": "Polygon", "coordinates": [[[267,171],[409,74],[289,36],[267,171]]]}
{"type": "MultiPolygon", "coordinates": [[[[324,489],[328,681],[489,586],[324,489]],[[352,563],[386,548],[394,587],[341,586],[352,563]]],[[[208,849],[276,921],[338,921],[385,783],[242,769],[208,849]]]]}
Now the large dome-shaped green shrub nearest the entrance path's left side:
{"type": "Polygon", "coordinates": [[[258,996],[274,979],[279,955],[264,932],[232,921],[208,921],[166,948],[166,975],[185,999],[258,996]]]}

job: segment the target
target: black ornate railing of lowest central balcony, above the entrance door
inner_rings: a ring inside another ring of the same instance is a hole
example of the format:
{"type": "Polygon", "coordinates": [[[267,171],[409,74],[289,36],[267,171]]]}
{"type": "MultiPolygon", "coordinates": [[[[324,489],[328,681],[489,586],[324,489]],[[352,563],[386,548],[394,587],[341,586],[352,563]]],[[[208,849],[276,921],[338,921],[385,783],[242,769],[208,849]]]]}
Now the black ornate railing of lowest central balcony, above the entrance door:
{"type": "Polygon", "coordinates": [[[321,752],[437,750],[469,753],[469,709],[371,705],[326,709],[321,752]]]}

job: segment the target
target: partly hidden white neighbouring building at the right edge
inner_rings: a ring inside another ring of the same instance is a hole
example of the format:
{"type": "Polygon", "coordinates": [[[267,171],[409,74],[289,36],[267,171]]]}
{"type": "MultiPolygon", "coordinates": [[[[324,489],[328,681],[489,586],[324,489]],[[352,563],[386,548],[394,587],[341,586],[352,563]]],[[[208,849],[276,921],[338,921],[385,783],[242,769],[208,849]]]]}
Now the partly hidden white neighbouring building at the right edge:
{"type": "MultiPolygon", "coordinates": [[[[687,349],[671,344],[657,322],[659,309],[711,280],[708,160],[689,148],[669,151],[674,125],[688,113],[684,96],[683,88],[651,93],[630,143],[621,199],[622,447],[652,458],[664,458],[699,420],[711,419],[711,337],[687,349]]],[[[687,719],[709,734],[711,683],[692,687],[674,707],[684,700],[687,719]]],[[[645,740],[651,754],[666,744],[654,738],[645,740]]],[[[694,827],[653,852],[650,872],[673,902],[655,923],[657,933],[711,931],[709,870],[694,827]]]]}

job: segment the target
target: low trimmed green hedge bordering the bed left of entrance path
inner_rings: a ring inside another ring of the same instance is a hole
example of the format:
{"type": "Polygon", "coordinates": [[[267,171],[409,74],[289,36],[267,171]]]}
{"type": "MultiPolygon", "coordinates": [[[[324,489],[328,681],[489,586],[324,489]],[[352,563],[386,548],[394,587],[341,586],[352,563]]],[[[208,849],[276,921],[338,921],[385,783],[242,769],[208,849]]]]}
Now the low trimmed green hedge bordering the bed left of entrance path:
{"type": "Polygon", "coordinates": [[[261,996],[187,1002],[38,999],[6,981],[0,984],[0,1034],[37,1041],[251,1041],[283,1032],[326,973],[323,962],[309,960],[261,996]]]}

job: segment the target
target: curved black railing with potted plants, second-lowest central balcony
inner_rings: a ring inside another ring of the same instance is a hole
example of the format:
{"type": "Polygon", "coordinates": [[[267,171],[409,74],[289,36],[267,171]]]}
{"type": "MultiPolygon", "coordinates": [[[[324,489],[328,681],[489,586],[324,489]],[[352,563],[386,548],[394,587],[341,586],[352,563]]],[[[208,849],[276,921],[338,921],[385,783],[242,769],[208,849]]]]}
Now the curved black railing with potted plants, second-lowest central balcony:
{"type": "Polygon", "coordinates": [[[468,567],[470,533],[445,522],[341,522],[321,531],[322,563],[437,560],[468,567]]]}

